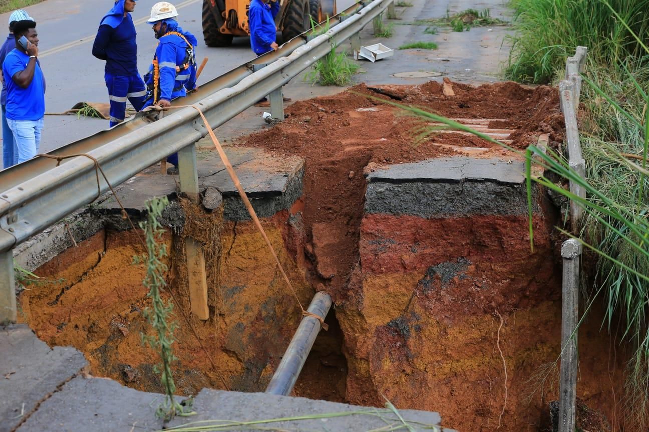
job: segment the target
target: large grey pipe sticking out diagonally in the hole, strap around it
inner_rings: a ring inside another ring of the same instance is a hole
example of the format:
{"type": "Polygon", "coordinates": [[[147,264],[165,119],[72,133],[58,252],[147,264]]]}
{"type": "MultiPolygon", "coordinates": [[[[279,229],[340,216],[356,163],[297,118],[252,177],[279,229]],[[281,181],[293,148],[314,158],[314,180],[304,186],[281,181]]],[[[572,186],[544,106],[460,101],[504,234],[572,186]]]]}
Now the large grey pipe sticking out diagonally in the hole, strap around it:
{"type": "MultiPolygon", "coordinates": [[[[327,312],[331,308],[331,297],[324,291],[315,293],[313,300],[309,305],[308,312],[311,312],[324,320],[327,312]]],[[[302,367],[306,358],[311,352],[315,337],[320,332],[320,320],[315,317],[305,315],[302,318],[297,332],[293,335],[291,343],[289,343],[284,357],[280,362],[279,367],[275,371],[275,375],[271,378],[271,382],[266,387],[266,392],[269,394],[280,394],[288,396],[293,390],[297,377],[300,376],[302,367]]]]}

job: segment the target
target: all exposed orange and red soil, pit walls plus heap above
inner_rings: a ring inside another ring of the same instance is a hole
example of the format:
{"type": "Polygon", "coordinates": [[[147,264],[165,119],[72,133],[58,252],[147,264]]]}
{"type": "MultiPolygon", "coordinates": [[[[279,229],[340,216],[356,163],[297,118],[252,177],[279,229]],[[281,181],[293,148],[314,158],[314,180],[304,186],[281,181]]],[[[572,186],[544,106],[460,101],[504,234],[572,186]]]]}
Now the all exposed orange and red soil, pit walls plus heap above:
{"type": "MultiPolygon", "coordinates": [[[[361,405],[383,405],[384,394],[400,409],[439,411],[445,426],[459,431],[540,431],[550,424],[548,402],[557,396],[554,369],[543,369],[560,351],[556,210],[539,203],[535,251],[526,214],[421,218],[363,211],[367,170],[458,154],[517,157],[461,133],[437,132],[413,146],[417,128],[429,120],[404,116],[389,102],[489,120],[491,130],[512,131],[504,138],[517,149],[541,133],[550,145],[563,139],[552,87],[451,85],[454,96],[437,82],[383,86],[379,93],[358,85],[297,102],[286,121],[245,140],[305,159],[302,198],[262,223],[302,304],[315,290],[336,301],[330,330],[319,335],[294,394],[361,405]],[[540,387],[539,376],[546,378],[540,387]]],[[[252,223],[183,207],[184,231],[167,238],[180,324],[178,390],[263,391],[301,318],[295,298],[252,223]],[[207,321],[184,319],[191,315],[182,264],[187,236],[206,245],[207,321]]],[[[152,373],[158,359],[140,344],[148,328],[140,312],[146,291],[143,269],[130,262],[141,252],[133,233],[102,231],[38,269],[66,279],[66,288],[35,287],[20,302],[39,337],[84,351],[94,374],[160,391],[152,373]]],[[[580,332],[578,396],[609,419],[620,418],[615,397],[622,393],[624,356],[602,359],[615,342],[600,332],[598,313],[580,332]]]]}

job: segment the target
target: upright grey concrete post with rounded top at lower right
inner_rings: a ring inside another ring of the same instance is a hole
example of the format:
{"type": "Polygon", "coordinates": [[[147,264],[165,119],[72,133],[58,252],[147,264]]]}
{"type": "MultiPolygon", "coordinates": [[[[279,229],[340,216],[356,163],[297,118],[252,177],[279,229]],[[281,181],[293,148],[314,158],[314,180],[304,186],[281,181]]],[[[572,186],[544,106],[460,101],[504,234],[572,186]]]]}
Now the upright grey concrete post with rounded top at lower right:
{"type": "Polygon", "coordinates": [[[582,255],[582,244],[578,240],[571,238],[561,245],[563,295],[561,301],[559,432],[574,432],[575,426],[580,255],[582,255]]]}

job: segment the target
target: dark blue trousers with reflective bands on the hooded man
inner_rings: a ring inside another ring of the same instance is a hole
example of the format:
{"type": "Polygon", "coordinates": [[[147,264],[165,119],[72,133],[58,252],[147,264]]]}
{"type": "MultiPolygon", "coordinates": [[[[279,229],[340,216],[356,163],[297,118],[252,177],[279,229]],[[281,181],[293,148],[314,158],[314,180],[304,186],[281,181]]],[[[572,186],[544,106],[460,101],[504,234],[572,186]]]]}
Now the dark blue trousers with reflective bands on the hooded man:
{"type": "Polygon", "coordinates": [[[131,76],[118,76],[108,72],[104,73],[108,99],[110,100],[110,127],[124,121],[126,113],[126,100],[136,111],[140,111],[147,96],[147,88],[140,74],[131,76]]]}

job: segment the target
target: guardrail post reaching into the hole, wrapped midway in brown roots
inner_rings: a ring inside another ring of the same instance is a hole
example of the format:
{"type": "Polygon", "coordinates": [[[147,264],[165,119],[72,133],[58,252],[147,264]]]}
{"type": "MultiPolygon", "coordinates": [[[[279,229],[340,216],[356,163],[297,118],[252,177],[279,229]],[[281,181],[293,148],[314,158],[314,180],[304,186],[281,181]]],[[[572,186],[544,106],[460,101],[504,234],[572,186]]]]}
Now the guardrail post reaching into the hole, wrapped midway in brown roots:
{"type": "MultiPolygon", "coordinates": [[[[178,174],[180,177],[180,192],[184,192],[193,203],[198,204],[199,178],[196,164],[196,146],[194,144],[178,150],[178,174]]],[[[187,237],[185,238],[185,253],[191,312],[198,319],[209,319],[207,276],[202,245],[193,238],[187,237]]]]}

